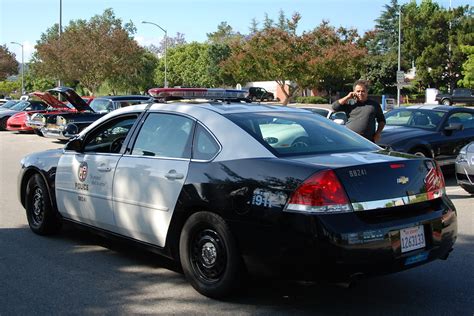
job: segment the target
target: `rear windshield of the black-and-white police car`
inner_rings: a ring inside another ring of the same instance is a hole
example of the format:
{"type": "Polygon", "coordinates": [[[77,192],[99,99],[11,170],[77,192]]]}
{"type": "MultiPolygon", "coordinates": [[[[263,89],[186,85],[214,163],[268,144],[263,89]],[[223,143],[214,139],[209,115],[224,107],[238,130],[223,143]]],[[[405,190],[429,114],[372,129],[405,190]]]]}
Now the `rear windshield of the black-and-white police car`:
{"type": "Polygon", "coordinates": [[[380,148],[362,136],[319,115],[292,112],[226,115],[276,156],[373,151],[380,148]]]}

